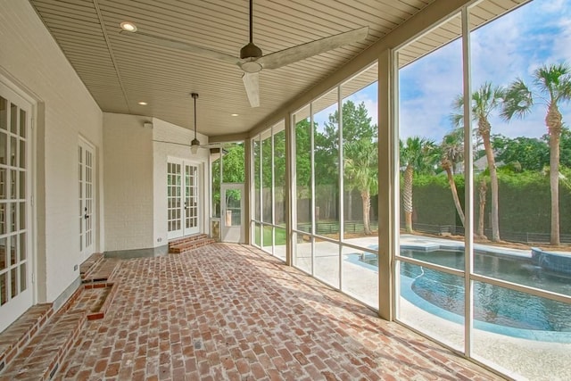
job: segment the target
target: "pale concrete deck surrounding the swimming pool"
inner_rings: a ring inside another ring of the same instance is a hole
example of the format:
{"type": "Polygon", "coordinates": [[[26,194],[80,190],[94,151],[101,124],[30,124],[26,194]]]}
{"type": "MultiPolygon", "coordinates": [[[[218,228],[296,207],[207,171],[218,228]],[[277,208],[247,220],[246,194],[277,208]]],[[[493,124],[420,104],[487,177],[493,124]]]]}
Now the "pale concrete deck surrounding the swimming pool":
{"type": "MultiPolygon", "coordinates": [[[[377,237],[360,237],[347,240],[348,243],[362,247],[377,246],[377,237]]],[[[401,246],[423,247],[463,247],[462,242],[450,239],[402,235],[401,246]]],[[[301,269],[310,269],[310,244],[298,244],[298,257],[295,265],[301,269]],[[309,254],[309,255],[308,255],[309,254]]],[[[336,244],[317,242],[315,276],[333,285],[339,276],[339,259],[335,253],[336,244]]],[[[490,244],[475,244],[475,249],[484,252],[501,252],[505,255],[531,258],[531,250],[510,249],[490,244]]],[[[343,248],[343,254],[362,253],[363,251],[343,248]]],[[[571,255],[571,253],[568,253],[571,255]]],[[[365,266],[343,261],[343,292],[352,295],[373,308],[378,308],[378,271],[365,266]]],[[[426,312],[400,297],[397,301],[399,320],[419,332],[431,335],[444,344],[464,352],[464,326],[450,320],[439,318],[426,312]]],[[[571,307],[569,310],[571,316],[571,307]]],[[[510,377],[534,380],[568,380],[571,379],[571,344],[550,343],[536,340],[500,335],[474,329],[472,336],[472,357],[480,360],[510,377]]]]}

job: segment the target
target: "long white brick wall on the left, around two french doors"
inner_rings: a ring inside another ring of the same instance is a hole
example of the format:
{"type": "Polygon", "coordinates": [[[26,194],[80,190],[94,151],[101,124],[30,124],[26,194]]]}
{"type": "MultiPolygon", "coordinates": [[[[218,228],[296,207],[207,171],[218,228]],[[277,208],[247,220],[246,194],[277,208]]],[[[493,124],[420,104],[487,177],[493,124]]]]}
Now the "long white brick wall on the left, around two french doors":
{"type": "MultiPolygon", "coordinates": [[[[45,142],[45,155],[37,157],[39,173],[45,170],[45,186],[38,183],[38,197],[45,192],[46,234],[38,236],[37,302],[52,302],[70,286],[79,270],[78,219],[78,139],[85,137],[95,145],[98,162],[96,195],[98,208],[103,196],[102,155],[103,113],[87,92],[76,72],[54,42],[53,37],[28,1],[2,0],[0,12],[0,73],[25,89],[45,106],[45,137],[38,134],[37,144],[45,142]],[[44,142],[40,141],[45,139],[44,142]]],[[[41,107],[40,107],[41,108],[41,107]]],[[[37,128],[40,129],[40,128],[37,128]]],[[[103,213],[99,209],[99,234],[95,250],[103,245],[103,213]]],[[[43,215],[43,212],[39,213],[43,215]]],[[[39,223],[39,222],[38,222],[39,223]]]]}

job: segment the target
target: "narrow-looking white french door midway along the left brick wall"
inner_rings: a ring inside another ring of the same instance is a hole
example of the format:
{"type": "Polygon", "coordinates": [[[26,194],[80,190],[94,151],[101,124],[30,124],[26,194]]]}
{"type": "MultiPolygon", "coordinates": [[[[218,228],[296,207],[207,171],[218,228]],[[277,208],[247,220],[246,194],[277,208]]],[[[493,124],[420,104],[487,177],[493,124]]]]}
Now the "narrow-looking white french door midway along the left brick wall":
{"type": "Polygon", "coordinates": [[[95,148],[79,138],[79,255],[95,251],[95,148]]]}

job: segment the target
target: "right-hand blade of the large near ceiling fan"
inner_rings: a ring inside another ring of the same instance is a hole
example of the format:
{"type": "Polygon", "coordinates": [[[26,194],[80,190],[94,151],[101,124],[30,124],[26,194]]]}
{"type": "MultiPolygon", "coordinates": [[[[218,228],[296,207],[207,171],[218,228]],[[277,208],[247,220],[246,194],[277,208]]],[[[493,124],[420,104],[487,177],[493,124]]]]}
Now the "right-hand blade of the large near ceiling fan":
{"type": "Polygon", "coordinates": [[[289,47],[279,52],[264,55],[257,60],[257,62],[260,62],[264,69],[277,69],[289,65],[290,63],[305,60],[313,55],[328,52],[336,47],[363,40],[367,35],[368,27],[353,29],[335,36],[321,38],[306,44],[289,47]]]}

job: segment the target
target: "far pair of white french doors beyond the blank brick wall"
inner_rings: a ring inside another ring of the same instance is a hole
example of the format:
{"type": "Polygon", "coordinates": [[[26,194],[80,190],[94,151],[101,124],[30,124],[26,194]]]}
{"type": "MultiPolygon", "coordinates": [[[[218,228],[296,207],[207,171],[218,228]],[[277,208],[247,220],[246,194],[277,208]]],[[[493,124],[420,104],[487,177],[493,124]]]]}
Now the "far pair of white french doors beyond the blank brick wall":
{"type": "Polygon", "coordinates": [[[200,170],[178,159],[167,162],[167,226],[169,239],[200,232],[200,170]]]}

